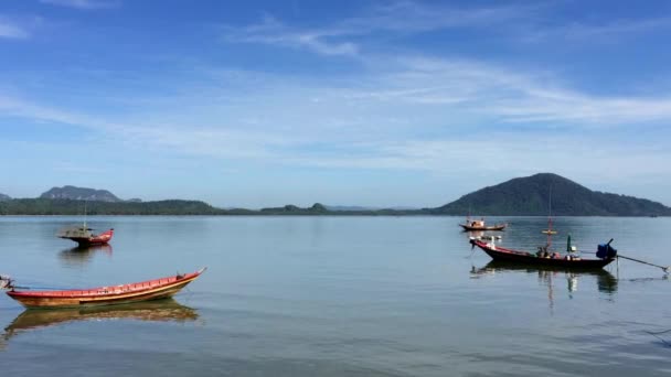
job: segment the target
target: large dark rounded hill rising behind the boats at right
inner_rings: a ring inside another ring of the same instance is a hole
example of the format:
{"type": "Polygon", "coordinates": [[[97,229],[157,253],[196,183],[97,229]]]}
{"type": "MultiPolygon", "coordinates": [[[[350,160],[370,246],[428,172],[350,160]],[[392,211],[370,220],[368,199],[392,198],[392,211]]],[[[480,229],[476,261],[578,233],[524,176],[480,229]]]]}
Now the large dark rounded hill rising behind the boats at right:
{"type": "Polygon", "coordinates": [[[671,208],[633,196],[592,191],[552,173],[518,177],[484,187],[433,208],[441,215],[671,216],[671,208]]]}

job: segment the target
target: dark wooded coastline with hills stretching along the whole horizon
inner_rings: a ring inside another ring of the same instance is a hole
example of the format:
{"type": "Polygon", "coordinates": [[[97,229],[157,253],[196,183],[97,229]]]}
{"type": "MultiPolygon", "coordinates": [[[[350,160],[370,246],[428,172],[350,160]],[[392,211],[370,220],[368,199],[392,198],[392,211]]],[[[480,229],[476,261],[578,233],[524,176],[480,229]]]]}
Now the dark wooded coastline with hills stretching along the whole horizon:
{"type": "Polygon", "coordinates": [[[545,216],[548,213],[550,195],[552,214],[555,216],[671,216],[671,208],[661,203],[592,191],[552,173],[512,179],[466,194],[443,206],[420,209],[373,209],[320,203],[310,207],[289,204],[262,209],[217,208],[201,201],[124,201],[107,190],[63,186],[53,187],[36,198],[11,198],[0,194],[0,215],[83,215],[82,202],[86,202],[88,215],[545,216]]]}

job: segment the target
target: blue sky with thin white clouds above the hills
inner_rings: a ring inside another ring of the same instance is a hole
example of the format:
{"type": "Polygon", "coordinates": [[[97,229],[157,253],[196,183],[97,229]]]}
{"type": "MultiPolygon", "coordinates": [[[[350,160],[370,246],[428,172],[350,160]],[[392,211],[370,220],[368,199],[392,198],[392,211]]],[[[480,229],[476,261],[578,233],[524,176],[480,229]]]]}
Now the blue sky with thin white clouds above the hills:
{"type": "Polygon", "coordinates": [[[669,1],[0,0],[0,193],[671,205],[669,1]]]}

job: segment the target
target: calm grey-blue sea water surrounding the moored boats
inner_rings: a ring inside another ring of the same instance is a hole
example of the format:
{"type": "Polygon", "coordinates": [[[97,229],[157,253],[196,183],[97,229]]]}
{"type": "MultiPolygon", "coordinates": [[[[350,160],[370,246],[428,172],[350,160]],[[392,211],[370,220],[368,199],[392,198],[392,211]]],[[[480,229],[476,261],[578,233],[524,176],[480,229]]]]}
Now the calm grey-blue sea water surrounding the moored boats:
{"type": "MultiPolygon", "coordinates": [[[[74,217],[0,217],[0,272],[88,288],[207,271],[173,301],[24,311],[0,297],[4,375],[654,376],[671,373],[671,281],[491,266],[457,217],[93,217],[108,247],[55,238],[74,217]]],[[[535,250],[542,217],[504,220],[535,250]]],[[[565,248],[671,265],[671,218],[558,217],[565,248]]]]}

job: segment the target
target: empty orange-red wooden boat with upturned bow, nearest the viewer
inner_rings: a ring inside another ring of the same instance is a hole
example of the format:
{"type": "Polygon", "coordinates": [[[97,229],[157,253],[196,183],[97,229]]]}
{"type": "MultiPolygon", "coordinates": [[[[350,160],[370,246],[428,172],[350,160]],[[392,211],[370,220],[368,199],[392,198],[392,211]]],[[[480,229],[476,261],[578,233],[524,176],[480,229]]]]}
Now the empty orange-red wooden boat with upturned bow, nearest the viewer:
{"type": "Polygon", "coordinates": [[[175,274],[142,282],[67,291],[19,291],[12,288],[7,294],[25,308],[81,308],[113,305],[170,298],[203,273],[175,274]]]}

